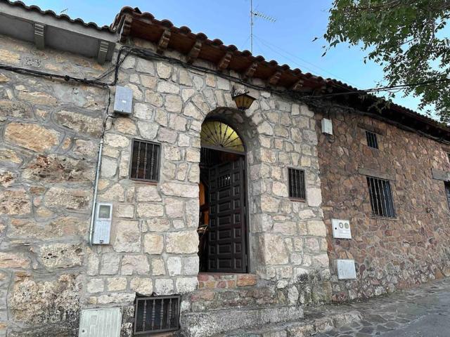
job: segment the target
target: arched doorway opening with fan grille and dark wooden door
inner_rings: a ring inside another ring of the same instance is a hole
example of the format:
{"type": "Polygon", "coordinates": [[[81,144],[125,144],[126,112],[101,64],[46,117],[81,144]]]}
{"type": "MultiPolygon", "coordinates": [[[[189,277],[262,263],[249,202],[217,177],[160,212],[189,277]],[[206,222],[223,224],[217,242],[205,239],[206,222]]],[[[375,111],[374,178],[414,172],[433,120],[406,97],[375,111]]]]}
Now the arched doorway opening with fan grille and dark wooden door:
{"type": "Polygon", "coordinates": [[[200,272],[248,272],[245,145],[214,119],[203,123],[200,140],[200,272]]]}

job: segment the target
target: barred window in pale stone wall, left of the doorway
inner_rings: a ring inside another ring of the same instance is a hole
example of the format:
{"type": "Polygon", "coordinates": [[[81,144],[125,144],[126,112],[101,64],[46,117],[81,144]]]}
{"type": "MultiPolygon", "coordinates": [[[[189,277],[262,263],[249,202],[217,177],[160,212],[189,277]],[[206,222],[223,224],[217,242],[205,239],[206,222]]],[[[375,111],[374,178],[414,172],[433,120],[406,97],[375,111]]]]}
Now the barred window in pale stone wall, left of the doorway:
{"type": "Polygon", "coordinates": [[[160,144],[133,140],[130,178],[157,182],[160,176],[160,144]]]}

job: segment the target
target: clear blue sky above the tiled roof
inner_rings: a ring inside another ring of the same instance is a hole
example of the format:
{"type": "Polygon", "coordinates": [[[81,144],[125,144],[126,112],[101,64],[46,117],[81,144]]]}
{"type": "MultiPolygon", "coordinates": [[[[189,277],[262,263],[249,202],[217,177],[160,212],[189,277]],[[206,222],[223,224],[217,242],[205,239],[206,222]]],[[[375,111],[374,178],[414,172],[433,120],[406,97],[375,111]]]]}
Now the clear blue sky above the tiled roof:
{"type": "MultiPolygon", "coordinates": [[[[156,19],[187,26],[193,33],[203,32],[210,39],[221,39],[240,50],[250,50],[250,0],[25,0],[42,10],[61,11],[85,22],[110,25],[124,6],[139,7],[156,19]]],[[[375,63],[364,64],[366,53],[358,47],[340,44],[322,57],[332,0],[253,0],[255,11],[275,18],[268,22],[256,18],[253,53],[278,64],[288,64],[326,78],[343,81],[356,88],[378,86],[383,69],[375,63]],[[312,41],[319,37],[316,41],[312,41]]],[[[418,111],[418,98],[402,98],[394,103],[418,111]]],[[[419,111],[418,111],[419,112],[419,111]]]]}

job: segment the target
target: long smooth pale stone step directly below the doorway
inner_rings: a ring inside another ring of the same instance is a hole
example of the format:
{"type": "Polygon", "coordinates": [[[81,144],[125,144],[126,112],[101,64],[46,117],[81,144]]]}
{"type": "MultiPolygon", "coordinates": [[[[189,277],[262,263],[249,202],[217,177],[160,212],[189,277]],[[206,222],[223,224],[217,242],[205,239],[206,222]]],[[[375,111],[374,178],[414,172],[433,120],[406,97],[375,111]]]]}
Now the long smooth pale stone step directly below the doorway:
{"type": "Polygon", "coordinates": [[[302,317],[303,309],[297,305],[185,312],[181,315],[181,334],[185,337],[210,337],[252,326],[298,321],[302,317]]]}

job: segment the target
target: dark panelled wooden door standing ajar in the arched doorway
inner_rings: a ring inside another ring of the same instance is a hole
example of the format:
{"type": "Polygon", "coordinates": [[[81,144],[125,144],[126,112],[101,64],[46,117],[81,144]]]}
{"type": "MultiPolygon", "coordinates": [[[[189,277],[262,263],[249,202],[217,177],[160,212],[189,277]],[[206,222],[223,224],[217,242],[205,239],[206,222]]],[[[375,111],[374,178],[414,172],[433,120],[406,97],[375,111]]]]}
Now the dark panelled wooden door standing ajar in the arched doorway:
{"type": "Polygon", "coordinates": [[[246,272],[245,161],[210,169],[207,271],[246,272]]]}

